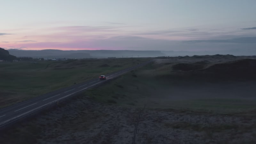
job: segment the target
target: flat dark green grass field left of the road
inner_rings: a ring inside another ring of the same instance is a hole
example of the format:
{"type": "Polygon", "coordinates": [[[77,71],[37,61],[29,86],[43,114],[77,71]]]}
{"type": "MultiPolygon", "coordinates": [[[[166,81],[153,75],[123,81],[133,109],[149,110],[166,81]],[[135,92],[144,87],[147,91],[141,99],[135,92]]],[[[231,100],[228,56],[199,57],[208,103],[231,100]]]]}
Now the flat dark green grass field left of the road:
{"type": "Polygon", "coordinates": [[[148,60],[116,58],[0,62],[0,108],[148,60]]]}

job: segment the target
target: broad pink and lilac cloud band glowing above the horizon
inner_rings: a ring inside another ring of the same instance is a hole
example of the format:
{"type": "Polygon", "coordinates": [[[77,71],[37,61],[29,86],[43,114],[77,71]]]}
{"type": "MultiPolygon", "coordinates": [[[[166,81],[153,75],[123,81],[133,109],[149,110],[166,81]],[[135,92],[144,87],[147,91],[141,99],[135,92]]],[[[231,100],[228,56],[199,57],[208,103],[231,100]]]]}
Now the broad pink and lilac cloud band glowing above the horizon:
{"type": "MultiPolygon", "coordinates": [[[[174,50],[192,47],[181,41],[218,36],[218,30],[174,29],[129,31],[125,26],[68,26],[42,28],[15,35],[2,36],[0,47],[60,50],[174,50]],[[26,47],[26,48],[25,48],[26,47]]],[[[240,30],[241,31],[241,30],[240,30]]],[[[239,32],[240,32],[239,31],[239,32]]],[[[234,34],[232,36],[235,36],[234,34]]],[[[196,47],[196,46],[195,46],[196,47]]]]}

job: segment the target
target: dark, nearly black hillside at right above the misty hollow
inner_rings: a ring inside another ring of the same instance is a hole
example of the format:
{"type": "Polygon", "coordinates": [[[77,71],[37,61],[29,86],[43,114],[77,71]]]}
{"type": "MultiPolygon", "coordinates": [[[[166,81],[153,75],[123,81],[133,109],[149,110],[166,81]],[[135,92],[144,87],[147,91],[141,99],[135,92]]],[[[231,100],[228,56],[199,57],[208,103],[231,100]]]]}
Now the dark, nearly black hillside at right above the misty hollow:
{"type": "MultiPolygon", "coordinates": [[[[217,57],[220,57],[216,55],[217,57]]],[[[208,61],[179,63],[172,66],[176,73],[188,79],[205,81],[256,80],[256,60],[241,59],[211,64],[208,61]]],[[[177,76],[176,76],[177,77],[177,76]]]]}

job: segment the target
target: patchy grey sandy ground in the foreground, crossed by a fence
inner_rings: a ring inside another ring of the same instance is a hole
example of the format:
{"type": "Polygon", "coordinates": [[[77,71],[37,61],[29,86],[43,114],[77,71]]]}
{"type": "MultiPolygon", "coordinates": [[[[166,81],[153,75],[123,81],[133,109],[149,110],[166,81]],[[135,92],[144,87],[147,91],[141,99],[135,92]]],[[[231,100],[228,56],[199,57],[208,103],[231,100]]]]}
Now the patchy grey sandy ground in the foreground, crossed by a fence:
{"type": "MultiPolygon", "coordinates": [[[[138,108],[124,108],[78,98],[60,104],[36,119],[0,136],[1,143],[38,144],[131,144],[139,114],[138,108]],[[64,106],[65,105],[65,106],[64,106]],[[31,139],[19,138],[22,129],[31,139]],[[16,141],[19,140],[19,141],[16,141]]],[[[173,109],[141,111],[136,143],[255,143],[256,116],[232,116],[173,109]]]]}

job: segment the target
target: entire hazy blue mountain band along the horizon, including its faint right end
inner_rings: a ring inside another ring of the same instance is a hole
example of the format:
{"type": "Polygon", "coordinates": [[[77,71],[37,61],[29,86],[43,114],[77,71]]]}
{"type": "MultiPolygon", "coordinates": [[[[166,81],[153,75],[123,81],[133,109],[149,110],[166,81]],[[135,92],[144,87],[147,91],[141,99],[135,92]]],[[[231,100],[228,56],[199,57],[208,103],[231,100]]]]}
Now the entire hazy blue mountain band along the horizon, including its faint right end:
{"type": "Polygon", "coordinates": [[[9,49],[10,54],[17,57],[32,58],[108,58],[108,57],[162,57],[162,56],[193,56],[193,55],[216,55],[232,54],[235,56],[256,55],[256,49],[244,50],[222,50],[222,51],[135,51],[135,50],[17,50],[9,49]]]}

